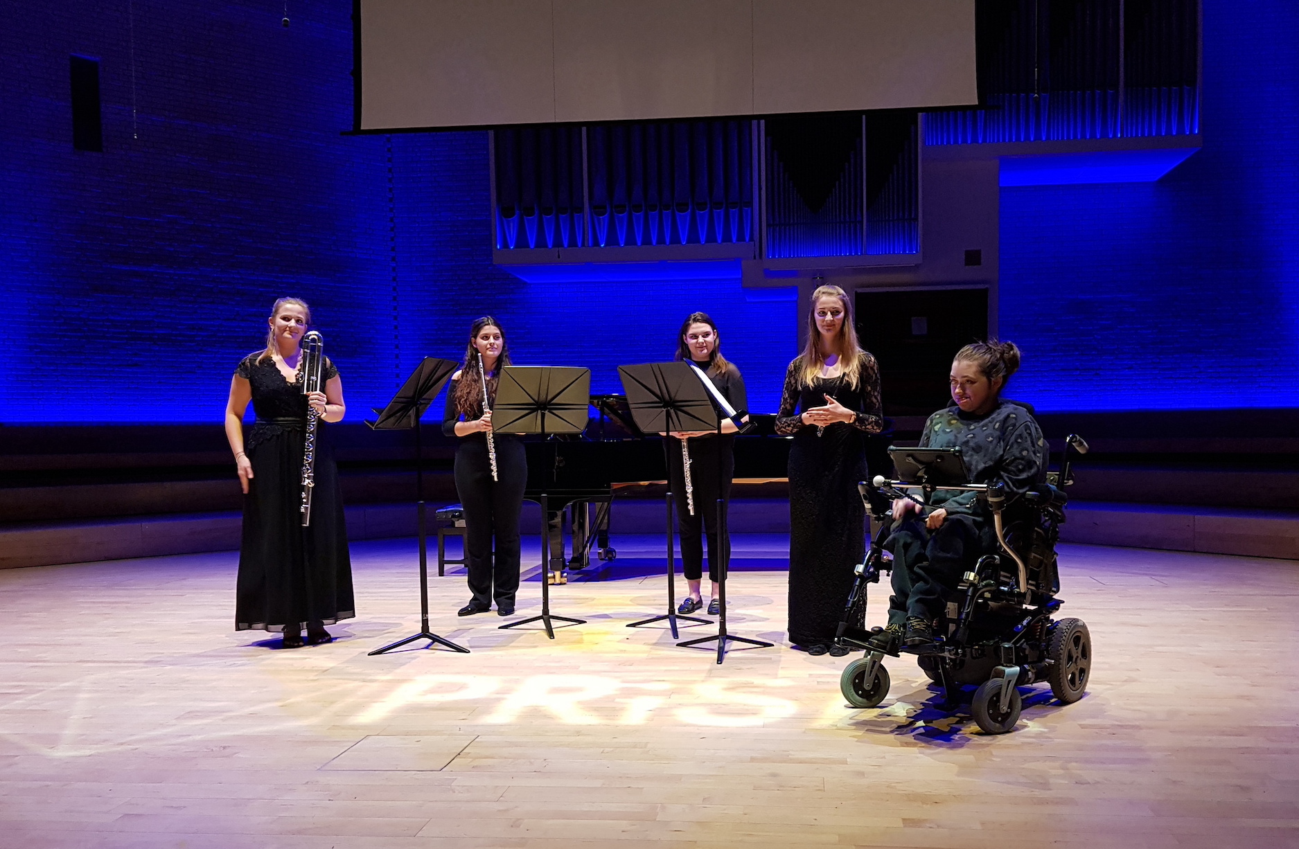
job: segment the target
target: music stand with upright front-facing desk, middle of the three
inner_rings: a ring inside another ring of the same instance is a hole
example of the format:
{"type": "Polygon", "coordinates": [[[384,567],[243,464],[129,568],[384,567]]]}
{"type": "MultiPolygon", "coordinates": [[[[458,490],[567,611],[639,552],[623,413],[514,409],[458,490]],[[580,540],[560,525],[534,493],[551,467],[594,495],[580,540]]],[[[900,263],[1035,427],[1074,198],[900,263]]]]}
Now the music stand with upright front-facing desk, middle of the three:
{"type": "MultiPolygon", "coordinates": [[[[492,430],[501,434],[581,434],[586,430],[591,405],[591,370],[573,366],[505,366],[496,386],[492,406],[492,430]]],[[[559,617],[551,613],[549,587],[549,504],[544,492],[542,506],[542,613],[499,626],[517,628],[530,622],[546,626],[546,636],[555,639],[552,621],[586,624],[586,619],[559,617]]],[[[561,626],[562,627],[562,626],[561,626]]]]}

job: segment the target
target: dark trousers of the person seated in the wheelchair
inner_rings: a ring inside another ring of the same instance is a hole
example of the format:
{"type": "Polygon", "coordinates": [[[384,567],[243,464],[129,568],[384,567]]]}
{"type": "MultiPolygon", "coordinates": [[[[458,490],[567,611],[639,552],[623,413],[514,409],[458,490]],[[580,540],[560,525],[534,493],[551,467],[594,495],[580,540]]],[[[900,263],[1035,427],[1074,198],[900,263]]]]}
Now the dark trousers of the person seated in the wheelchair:
{"type": "Polygon", "coordinates": [[[909,514],[894,524],[885,548],[894,556],[889,623],[902,624],[907,617],[937,619],[961,575],[996,550],[996,532],[990,521],[965,513],[948,514],[937,531],[909,514]]]}

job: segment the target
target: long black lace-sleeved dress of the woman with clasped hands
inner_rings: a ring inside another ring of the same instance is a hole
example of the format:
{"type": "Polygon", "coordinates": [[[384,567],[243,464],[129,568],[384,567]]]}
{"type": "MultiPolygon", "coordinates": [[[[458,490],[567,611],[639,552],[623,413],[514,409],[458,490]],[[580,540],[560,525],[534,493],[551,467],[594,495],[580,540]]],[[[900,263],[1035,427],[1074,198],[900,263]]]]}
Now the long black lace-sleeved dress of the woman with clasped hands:
{"type": "Polygon", "coordinates": [[[801,358],[785,374],[776,431],[790,447],[790,641],[811,646],[834,640],[852,588],[852,567],[865,554],[865,508],[857,482],[866,478],[866,434],[883,425],[879,367],[861,353],[856,388],[846,378],[800,386],[801,358]],[[799,414],[825,406],[830,395],[852,410],[852,423],[835,422],[818,435],[799,414]]]}

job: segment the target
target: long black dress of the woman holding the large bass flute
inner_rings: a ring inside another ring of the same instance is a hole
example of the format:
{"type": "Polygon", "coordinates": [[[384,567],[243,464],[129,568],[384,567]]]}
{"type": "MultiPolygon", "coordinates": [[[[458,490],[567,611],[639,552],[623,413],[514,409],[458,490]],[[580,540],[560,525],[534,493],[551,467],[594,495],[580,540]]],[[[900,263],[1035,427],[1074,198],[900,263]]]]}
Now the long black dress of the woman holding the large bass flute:
{"type": "MultiPolygon", "coordinates": [[[[252,387],[257,421],[244,440],[253,478],[244,496],[235,630],[300,631],[356,615],[343,497],[329,425],[316,427],[312,523],[303,527],[303,443],[307,396],[266,357],[249,354],[238,374],[252,387]]],[[[326,361],[325,379],[338,375],[326,361]]]]}

